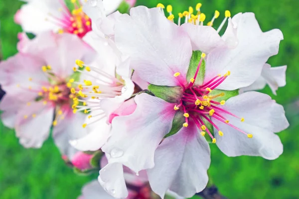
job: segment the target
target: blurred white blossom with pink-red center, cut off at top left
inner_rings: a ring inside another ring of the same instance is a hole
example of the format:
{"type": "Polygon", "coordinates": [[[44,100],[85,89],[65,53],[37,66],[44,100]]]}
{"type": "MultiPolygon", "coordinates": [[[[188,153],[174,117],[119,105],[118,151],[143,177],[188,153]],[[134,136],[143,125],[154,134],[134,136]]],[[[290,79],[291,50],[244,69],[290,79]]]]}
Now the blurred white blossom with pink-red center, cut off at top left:
{"type": "MultiPolygon", "coordinates": [[[[83,37],[91,30],[91,19],[82,11],[87,0],[24,0],[15,22],[25,32],[68,32],[83,37]],[[69,2],[68,2],[69,1],[69,2]]],[[[89,0],[91,2],[95,0],[89,0]]],[[[123,0],[103,0],[105,14],[114,12],[123,0]]],[[[131,3],[131,2],[130,2],[131,3]]]]}

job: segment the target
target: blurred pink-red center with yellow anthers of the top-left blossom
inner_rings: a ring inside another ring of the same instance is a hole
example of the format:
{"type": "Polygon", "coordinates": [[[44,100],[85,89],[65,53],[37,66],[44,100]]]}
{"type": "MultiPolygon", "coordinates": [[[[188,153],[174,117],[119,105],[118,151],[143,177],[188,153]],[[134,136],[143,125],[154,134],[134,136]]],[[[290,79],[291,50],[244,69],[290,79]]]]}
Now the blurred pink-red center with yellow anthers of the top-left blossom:
{"type": "Polygon", "coordinates": [[[58,33],[62,34],[64,32],[72,33],[78,35],[80,38],[91,31],[91,19],[82,11],[82,4],[79,0],[71,0],[73,4],[73,9],[70,11],[63,0],[61,1],[62,7],[59,11],[62,13],[62,17],[55,17],[49,14],[50,20],[55,25],[60,26],[58,33]]]}

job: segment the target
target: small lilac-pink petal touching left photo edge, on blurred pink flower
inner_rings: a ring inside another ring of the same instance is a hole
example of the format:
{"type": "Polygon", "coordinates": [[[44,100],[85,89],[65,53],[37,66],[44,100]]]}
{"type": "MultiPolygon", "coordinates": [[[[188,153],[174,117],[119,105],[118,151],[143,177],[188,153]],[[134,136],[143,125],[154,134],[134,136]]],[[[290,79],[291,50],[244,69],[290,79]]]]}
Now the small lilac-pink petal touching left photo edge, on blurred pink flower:
{"type": "Polygon", "coordinates": [[[14,127],[17,112],[24,105],[25,104],[22,104],[22,102],[17,100],[15,97],[7,94],[4,95],[0,101],[0,110],[3,111],[3,113],[1,113],[1,121],[6,127],[14,127]]]}

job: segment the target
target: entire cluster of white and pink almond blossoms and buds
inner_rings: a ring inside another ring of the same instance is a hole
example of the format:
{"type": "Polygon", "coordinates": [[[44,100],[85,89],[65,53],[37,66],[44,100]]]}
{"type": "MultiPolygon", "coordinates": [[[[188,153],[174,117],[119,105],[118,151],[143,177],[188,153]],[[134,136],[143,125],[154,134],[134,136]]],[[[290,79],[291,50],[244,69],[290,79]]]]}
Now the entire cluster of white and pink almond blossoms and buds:
{"type": "Polygon", "coordinates": [[[286,85],[287,67],[266,63],[283,34],[262,32],[253,13],[226,10],[215,29],[220,12],[205,22],[201,3],[176,20],[161,3],[27,1],[15,21],[36,36],[20,33],[19,53],[0,64],[1,119],[24,147],[51,131],[67,164],[99,171],[82,199],[192,197],[208,183],[209,144],[282,154],[284,108],[254,90],[286,85]]]}

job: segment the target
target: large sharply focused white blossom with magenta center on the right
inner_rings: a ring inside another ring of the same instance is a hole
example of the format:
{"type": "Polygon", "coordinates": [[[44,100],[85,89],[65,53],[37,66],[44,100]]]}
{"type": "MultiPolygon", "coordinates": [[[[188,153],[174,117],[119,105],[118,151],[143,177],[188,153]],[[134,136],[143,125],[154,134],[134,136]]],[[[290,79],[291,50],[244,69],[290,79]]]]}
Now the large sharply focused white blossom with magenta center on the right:
{"type": "MultiPolygon", "coordinates": [[[[207,185],[209,143],[227,156],[272,160],[282,154],[275,133],[289,126],[284,108],[265,94],[239,94],[239,89],[261,76],[283,35],[278,29],[262,32],[253,13],[230,18],[226,12],[228,27],[220,36],[211,27],[218,11],[207,26],[192,10],[182,14],[182,25],[162,11],[163,6],[139,6],[116,21],[116,45],[130,57],[130,69],[150,83],[152,95],[137,95],[136,110],[112,120],[102,150],[109,164],[123,164],[137,174],[147,169],[150,186],[161,198],[168,189],[189,198],[207,185]]],[[[105,170],[102,176],[120,178],[105,170]]],[[[118,186],[117,191],[124,189],[118,186]]]]}

